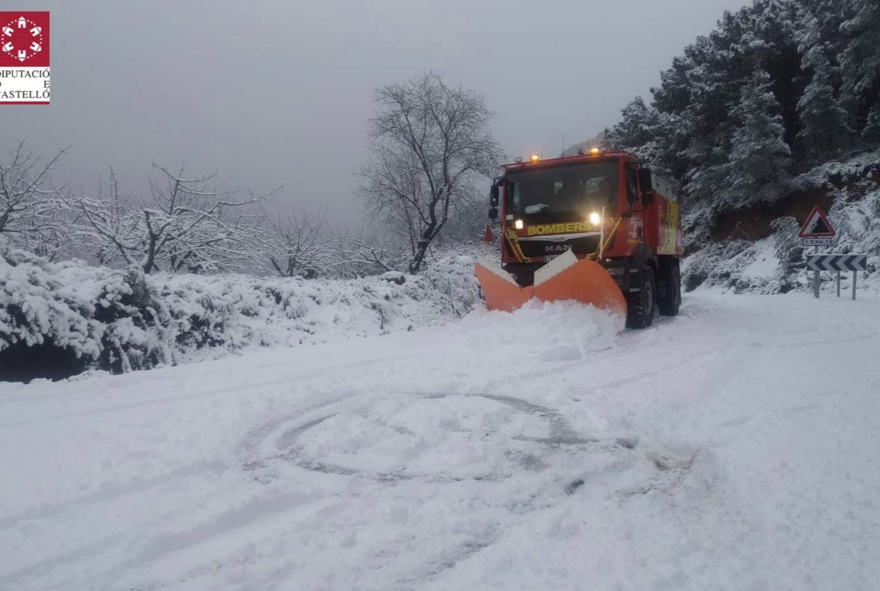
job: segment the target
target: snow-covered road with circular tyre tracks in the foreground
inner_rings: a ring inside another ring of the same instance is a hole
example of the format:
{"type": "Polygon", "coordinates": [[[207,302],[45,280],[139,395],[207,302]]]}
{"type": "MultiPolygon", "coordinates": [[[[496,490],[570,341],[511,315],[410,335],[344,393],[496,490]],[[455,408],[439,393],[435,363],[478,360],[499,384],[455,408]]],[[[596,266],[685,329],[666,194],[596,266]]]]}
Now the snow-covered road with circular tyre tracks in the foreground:
{"type": "Polygon", "coordinates": [[[876,588],[880,301],[682,314],[0,384],[0,588],[876,588]]]}

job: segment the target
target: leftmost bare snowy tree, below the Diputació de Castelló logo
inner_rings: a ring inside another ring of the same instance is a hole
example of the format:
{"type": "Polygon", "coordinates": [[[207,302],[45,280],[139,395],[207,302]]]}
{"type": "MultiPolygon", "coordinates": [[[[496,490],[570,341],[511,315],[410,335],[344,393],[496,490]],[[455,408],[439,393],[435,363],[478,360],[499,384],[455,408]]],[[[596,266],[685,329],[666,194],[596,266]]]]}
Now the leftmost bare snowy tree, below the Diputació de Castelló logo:
{"type": "Polygon", "coordinates": [[[71,223],[64,187],[50,186],[49,174],[66,150],[41,162],[24,142],[0,163],[0,236],[19,248],[55,259],[67,244],[71,223]]]}

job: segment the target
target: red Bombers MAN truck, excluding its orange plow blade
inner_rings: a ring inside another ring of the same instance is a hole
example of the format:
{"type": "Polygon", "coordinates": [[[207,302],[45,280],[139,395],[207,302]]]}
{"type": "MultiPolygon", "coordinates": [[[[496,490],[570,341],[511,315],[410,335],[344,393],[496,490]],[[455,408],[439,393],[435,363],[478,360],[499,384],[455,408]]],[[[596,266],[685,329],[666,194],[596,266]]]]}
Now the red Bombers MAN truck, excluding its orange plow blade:
{"type": "Polygon", "coordinates": [[[650,325],[655,305],[661,314],[678,313],[678,203],[638,157],[592,149],[502,168],[489,217],[500,213],[502,268],[520,286],[531,285],[536,269],[570,251],[612,275],[627,299],[627,325],[650,325]]]}

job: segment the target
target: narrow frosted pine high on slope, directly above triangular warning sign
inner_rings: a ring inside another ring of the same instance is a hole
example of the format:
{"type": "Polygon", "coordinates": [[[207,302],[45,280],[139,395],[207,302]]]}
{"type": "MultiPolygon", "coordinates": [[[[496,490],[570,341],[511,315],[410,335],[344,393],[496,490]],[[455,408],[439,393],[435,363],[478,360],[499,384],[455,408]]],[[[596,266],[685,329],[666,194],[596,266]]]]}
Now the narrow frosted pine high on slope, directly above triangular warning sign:
{"type": "Polygon", "coordinates": [[[834,97],[831,64],[820,45],[814,45],[803,56],[803,68],[813,72],[803,96],[797,101],[801,131],[798,147],[806,159],[822,161],[847,147],[853,135],[847,112],[834,97]]]}

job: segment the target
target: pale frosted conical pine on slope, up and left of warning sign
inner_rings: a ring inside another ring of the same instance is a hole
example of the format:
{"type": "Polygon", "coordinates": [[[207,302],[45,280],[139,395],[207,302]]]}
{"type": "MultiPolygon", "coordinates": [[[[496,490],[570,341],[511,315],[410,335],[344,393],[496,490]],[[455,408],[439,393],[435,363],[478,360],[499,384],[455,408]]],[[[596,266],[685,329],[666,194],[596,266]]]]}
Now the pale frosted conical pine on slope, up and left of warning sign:
{"type": "Polygon", "coordinates": [[[749,202],[774,201],[788,180],[791,150],[770,76],[755,69],[740,100],[730,112],[737,127],[731,136],[730,160],[724,165],[727,185],[715,210],[749,202]]]}

